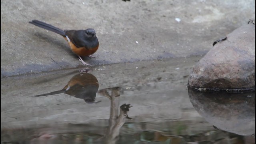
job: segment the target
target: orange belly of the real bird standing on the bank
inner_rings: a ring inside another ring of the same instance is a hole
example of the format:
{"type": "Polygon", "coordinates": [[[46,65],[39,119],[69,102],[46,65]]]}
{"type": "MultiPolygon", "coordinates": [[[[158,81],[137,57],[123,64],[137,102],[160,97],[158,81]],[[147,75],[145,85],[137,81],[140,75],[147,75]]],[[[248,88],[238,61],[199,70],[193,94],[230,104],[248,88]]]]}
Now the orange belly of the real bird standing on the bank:
{"type": "Polygon", "coordinates": [[[68,44],[70,45],[71,50],[78,56],[89,56],[91,54],[94,54],[94,52],[96,52],[99,47],[98,45],[95,48],[86,49],[84,47],[77,48],[72,42],[68,42],[68,44]]]}

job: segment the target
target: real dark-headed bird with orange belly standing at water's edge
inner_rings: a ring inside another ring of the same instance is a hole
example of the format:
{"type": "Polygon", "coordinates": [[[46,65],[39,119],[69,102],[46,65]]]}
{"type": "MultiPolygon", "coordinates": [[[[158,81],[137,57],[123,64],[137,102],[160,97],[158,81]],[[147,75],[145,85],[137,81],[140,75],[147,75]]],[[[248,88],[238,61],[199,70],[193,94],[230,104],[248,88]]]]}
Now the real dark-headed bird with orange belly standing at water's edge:
{"type": "Polygon", "coordinates": [[[63,36],[68,42],[72,52],[79,57],[79,61],[84,65],[90,66],[90,64],[84,62],[81,56],[92,57],[90,55],[94,54],[98,50],[99,41],[93,28],[88,28],[86,30],[61,30],[60,28],[56,28],[55,26],[46,24],[39,20],[32,20],[29,23],[63,36]]]}

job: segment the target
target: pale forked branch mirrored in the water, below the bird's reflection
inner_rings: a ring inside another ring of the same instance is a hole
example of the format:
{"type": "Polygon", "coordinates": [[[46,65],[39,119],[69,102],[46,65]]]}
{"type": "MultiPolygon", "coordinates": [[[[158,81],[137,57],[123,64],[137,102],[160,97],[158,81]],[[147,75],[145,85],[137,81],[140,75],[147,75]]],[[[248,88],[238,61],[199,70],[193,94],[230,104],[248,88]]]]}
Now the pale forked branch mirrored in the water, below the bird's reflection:
{"type": "Polygon", "coordinates": [[[124,125],[125,119],[131,119],[127,113],[129,108],[132,106],[130,104],[122,104],[122,106],[119,107],[120,93],[122,93],[122,88],[120,87],[102,89],[99,90],[98,93],[110,99],[110,118],[105,135],[105,142],[106,144],[115,144],[118,140],[120,128],[124,125]]]}

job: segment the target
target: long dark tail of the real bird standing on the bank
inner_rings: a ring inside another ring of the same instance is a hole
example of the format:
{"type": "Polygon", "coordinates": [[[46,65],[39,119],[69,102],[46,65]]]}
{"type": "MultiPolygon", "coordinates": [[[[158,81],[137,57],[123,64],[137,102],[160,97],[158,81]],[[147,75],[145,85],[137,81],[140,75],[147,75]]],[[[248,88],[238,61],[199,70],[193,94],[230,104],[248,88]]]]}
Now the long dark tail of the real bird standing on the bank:
{"type": "Polygon", "coordinates": [[[46,30],[50,30],[52,32],[55,32],[57,34],[60,34],[62,36],[65,36],[65,32],[59,28],[56,28],[55,26],[52,26],[50,24],[46,24],[44,22],[41,22],[39,20],[32,20],[32,22],[29,22],[30,24],[34,24],[35,26],[39,26],[40,28],[44,28],[46,30]]]}

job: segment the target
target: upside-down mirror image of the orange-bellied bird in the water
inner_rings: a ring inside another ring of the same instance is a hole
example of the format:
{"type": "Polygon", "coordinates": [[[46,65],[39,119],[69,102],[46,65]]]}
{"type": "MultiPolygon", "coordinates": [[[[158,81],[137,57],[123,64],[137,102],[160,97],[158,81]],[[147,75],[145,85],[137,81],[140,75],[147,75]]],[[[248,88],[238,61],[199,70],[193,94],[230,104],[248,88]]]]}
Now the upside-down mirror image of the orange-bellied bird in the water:
{"type": "Polygon", "coordinates": [[[40,94],[33,97],[50,96],[54,94],[68,94],[76,98],[84,99],[88,104],[95,102],[96,93],[98,92],[99,82],[97,78],[90,73],[79,73],[73,76],[68,84],[62,88],[47,94],[40,94]]]}

